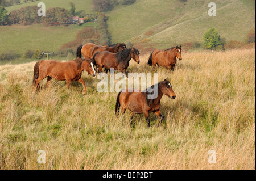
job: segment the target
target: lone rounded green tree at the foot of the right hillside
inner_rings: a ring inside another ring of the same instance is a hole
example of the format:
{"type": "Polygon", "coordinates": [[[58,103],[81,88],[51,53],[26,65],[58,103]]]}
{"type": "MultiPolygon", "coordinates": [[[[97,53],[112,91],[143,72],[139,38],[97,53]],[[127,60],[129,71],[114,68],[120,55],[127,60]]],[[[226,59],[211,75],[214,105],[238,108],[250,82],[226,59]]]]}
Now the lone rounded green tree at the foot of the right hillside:
{"type": "Polygon", "coordinates": [[[221,45],[221,38],[216,28],[210,28],[204,33],[204,44],[207,49],[216,49],[218,45],[221,45]]]}

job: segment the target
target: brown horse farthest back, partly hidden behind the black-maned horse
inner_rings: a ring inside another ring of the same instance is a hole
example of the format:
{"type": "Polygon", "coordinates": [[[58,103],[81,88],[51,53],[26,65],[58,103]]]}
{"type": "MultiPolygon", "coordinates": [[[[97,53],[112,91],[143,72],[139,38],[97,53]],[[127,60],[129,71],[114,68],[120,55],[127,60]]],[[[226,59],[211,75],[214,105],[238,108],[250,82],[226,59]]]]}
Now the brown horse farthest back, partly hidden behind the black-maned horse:
{"type": "Polygon", "coordinates": [[[82,54],[84,55],[85,59],[92,59],[93,55],[97,52],[112,52],[117,53],[122,50],[126,49],[125,43],[117,43],[109,46],[101,46],[101,45],[95,45],[92,43],[88,43],[85,45],[80,45],[77,47],[77,58],[82,58],[82,54]]]}

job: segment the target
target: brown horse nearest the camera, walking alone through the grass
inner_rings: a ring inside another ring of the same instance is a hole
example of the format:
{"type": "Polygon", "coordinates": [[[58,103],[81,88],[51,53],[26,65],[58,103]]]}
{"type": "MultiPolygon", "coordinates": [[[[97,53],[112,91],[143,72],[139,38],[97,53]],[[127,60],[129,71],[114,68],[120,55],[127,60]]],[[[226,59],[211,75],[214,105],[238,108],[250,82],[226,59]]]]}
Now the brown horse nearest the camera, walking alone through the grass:
{"type": "MultiPolygon", "coordinates": [[[[144,114],[147,126],[150,127],[150,120],[148,119],[149,113],[154,112],[156,116],[161,118],[160,123],[163,122],[163,115],[160,112],[160,100],[162,96],[167,95],[171,99],[175,99],[176,95],[172,90],[171,83],[168,81],[168,78],[165,79],[163,82],[159,82],[158,85],[154,85],[143,92],[135,90],[123,90],[117,96],[117,103],[115,104],[115,115],[118,116],[119,109],[121,107],[122,113],[128,109],[131,112],[131,124],[133,120],[134,114],[144,114]],[[152,90],[158,90],[158,95],[155,96],[155,99],[149,98],[150,94],[152,95],[152,90]]],[[[158,125],[159,125],[158,124],[158,125]]]]}

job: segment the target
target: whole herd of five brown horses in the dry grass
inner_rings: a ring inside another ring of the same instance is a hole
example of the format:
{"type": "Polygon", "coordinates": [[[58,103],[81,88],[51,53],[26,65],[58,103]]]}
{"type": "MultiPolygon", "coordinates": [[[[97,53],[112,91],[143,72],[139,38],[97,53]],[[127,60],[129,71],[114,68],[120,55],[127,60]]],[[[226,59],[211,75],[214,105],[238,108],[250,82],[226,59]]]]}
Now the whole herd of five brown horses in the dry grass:
{"type": "MultiPolygon", "coordinates": [[[[47,78],[46,86],[49,87],[52,78],[57,81],[66,81],[67,90],[69,89],[71,81],[78,81],[82,83],[82,95],[85,95],[86,86],[85,81],[81,78],[82,71],[87,71],[93,77],[96,73],[102,73],[105,68],[106,73],[110,69],[118,70],[128,77],[129,62],[133,59],[137,64],[141,61],[139,59],[139,50],[136,48],[127,48],[125,43],[118,43],[109,46],[95,45],[88,43],[77,47],[77,57],[75,60],[61,62],[57,60],[39,60],[34,66],[33,86],[34,91],[38,90],[39,83],[47,78]],[[84,58],[82,58],[84,56],[84,58]]],[[[167,69],[174,71],[176,58],[180,61],[181,46],[172,47],[166,50],[155,50],[150,54],[147,64],[149,66],[164,66],[167,69]]],[[[153,112],[160,117],[159,125],[164,119],[160,112],[160,100],[163,95],[167,95],[171,99],[175,99],[176,95],[172,90],[172,85],[168,78],[158,85],[148,87],[144,91],[128,91],[122,90],[117,96],[115,104],[115,115],[119,115],[119,111],[125,113],[130,110],[130,123],[134,114],[144,114],[147,126],[150,127],[149,113],[153,112]],[[158,96],[155,99],[148,98],[150,89],[158,89],[158,96]]]]}

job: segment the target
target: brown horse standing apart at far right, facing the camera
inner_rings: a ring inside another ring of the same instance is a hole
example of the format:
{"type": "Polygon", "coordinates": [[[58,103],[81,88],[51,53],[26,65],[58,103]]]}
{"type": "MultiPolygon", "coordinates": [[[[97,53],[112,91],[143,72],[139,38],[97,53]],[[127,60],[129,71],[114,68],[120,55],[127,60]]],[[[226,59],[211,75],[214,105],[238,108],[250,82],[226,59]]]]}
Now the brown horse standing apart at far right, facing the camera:
{"type": "Polygon", "coordinates": [[[182,60],[181,57],[181,46],[172,47],[167,50],[155,50],[150,54],[147,64],[150,66],[165,66],[167,69],[174,71],[175,64],[177,62],[176,57],[179,58],[179,61],[182,60]]]}

